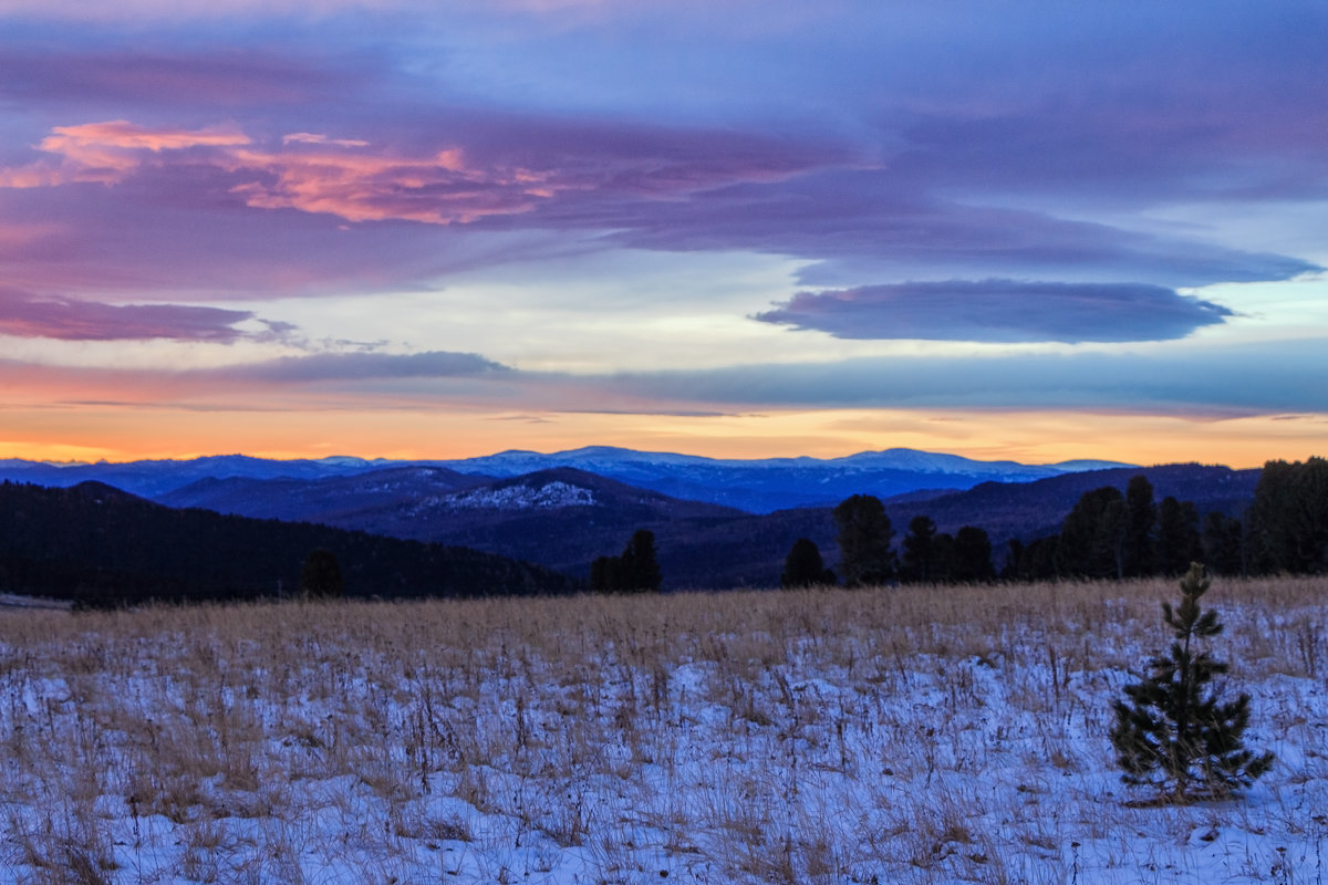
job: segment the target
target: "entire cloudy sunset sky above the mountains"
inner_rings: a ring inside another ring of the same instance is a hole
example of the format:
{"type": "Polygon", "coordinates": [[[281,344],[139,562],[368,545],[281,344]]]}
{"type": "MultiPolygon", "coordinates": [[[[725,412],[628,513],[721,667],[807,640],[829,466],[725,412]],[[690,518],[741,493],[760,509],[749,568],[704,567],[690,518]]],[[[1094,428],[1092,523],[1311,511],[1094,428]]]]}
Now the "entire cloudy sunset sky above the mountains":
{"type": "Polygon", "coordinates": [[[1328,454],[1328,7],[0,0],[0,458],[1328,454]]]}

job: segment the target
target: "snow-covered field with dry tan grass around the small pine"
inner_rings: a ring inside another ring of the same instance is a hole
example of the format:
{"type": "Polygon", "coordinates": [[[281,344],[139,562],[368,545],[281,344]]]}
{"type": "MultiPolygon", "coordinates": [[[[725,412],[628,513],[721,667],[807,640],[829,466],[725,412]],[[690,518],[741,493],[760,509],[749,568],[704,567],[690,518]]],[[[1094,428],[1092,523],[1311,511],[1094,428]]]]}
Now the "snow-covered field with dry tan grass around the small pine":
{"type": "Polygon", "coordinates": [[[1131,807],[1175,584],[0,610],[0,881],[1321,882],[1328,580],[1218,581],[1243,797],[1131,807]]]}

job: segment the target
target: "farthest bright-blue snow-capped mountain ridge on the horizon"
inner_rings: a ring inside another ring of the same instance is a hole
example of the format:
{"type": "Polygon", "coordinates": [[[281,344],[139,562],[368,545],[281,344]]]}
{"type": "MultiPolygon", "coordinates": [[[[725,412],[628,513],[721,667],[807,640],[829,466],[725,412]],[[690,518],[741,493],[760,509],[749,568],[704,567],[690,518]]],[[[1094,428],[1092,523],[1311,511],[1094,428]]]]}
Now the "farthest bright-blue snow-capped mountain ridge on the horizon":
{"type": "Polygon", "coordinates": [[[716,459],[591,446],[552,454],[513,450],[456,460],[388,460],[353,456],[270,460],[247,455],[69,464],[8,460],[0,462],[0,479],[60,487],[96,480],[155,499],[206,479],[313,480],[356,476],[386,468],[428,467],[478,476],[477,484],[482,484],[493,478],[521,476],[566,467],[675,499],[706,502],[752,513],[770,513],[793,507],[834,504],[855,494],[891,498],[919,490],[963,491],[984,482],[1023,483],[1066,472],[1127,466],[1092,460],[1061,464],[983,462],[911,448],[867,451],[830,459],[809,456],[716,459]]]}

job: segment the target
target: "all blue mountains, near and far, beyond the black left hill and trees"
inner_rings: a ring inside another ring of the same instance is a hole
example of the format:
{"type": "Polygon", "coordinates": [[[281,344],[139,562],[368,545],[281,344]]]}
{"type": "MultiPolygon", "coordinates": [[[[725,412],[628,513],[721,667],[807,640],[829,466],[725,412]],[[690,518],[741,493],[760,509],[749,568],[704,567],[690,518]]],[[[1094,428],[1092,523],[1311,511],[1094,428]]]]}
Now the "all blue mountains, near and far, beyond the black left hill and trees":
{"type": "Polygon", "coordinates": [[[1201,513],[1239,515],[1259,476],[1258,470],[1201,464],[1101,467],[1101,462],[973,462],[910,450],[749,462],[596,447],[428,463],[246,456],[129,464],[0,462],[0,479],[68,484],[97,476],[167,507],[473,548],[579,580],[598,556],[620,553],[635,529],[648,528],[656,536],[665,586],[677,589],[777,585],[784,557],[799,537],[814,540],[834,565],[831,510],[853,494],[882,498],[899,536],[916,515],[931,516],[942,532],[983,527],[999,567],[1007,540],[1054,533],[1092,488],[1123,490],[1143,474],[1159,499],[1173,495],[1195,502],[1201,513]],[[681,488],[693,498],[655,487],[681,488]],[[732,500],[748,508],[725,503],[732,500]],[[805,502],[815,504],[799,506],[805,502]],[[782,507],[770,510],[773,504],[782,507]]]}

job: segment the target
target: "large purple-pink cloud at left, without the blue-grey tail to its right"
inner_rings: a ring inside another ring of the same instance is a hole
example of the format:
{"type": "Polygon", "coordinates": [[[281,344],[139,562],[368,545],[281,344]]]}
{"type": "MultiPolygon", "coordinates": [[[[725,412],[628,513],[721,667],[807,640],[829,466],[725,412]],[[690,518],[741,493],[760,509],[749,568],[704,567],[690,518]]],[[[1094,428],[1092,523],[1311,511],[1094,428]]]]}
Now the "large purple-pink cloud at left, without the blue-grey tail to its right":
{"type": "Polygon", "coordinates": [[[580,252],[602,232],[505,220],[543,203],[663,206],[845,159],[782,138],[481,111],[434,118],[424,131],[329,131],[296,119],[270,135],[121,121],[58,129],[36,142],[49,150],[0,170],[11,184],[0,187],[0,214],[29,230],[21,248],[0,238],[0,272],[32,289],[408,288],[580,252]]]}

